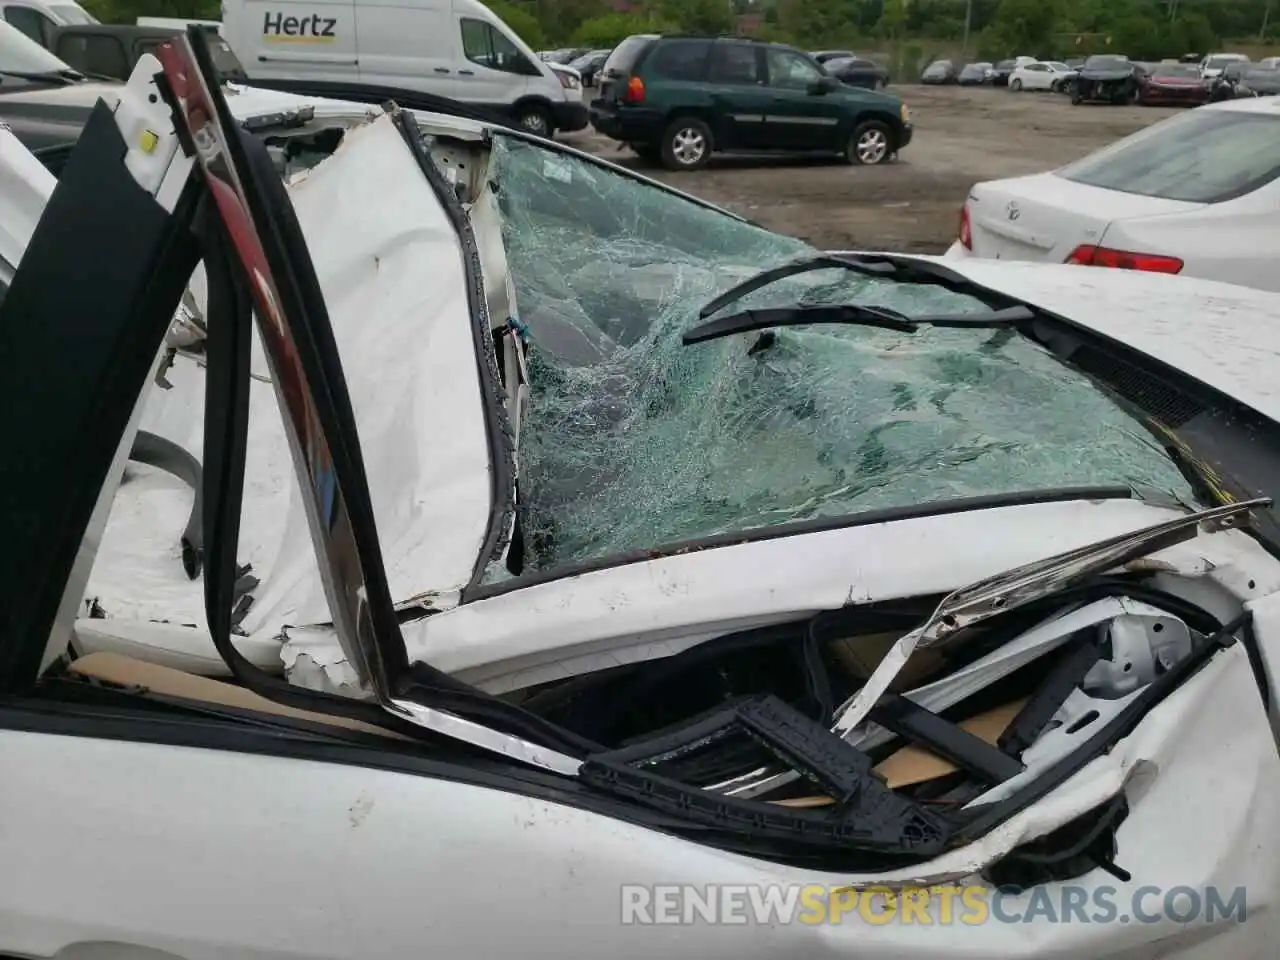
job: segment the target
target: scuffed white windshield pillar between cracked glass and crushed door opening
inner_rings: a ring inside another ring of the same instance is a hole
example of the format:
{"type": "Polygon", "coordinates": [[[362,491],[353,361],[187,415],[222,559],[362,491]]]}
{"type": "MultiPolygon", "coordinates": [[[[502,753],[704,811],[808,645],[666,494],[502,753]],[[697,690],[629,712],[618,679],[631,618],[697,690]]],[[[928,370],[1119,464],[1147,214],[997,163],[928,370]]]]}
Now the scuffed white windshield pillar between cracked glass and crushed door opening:
{"type": "MultiPolygon", "coordinates": [[[[404,623],[402,632],[411,659],[502,694],[820,609],[945,594],[1175,516],[1137,500],[1038,503],[736,544],[539,584],[404,623]]],[[[1236,531],[1202,534],[1148,562],[1206,581],[1211,573],[1206,590],[1226,600],[1280,590],[1280,567],[1236,531]]],[[[324,628],[306,650],[320,655],[321,635],[340,659],[324,628]]]]}

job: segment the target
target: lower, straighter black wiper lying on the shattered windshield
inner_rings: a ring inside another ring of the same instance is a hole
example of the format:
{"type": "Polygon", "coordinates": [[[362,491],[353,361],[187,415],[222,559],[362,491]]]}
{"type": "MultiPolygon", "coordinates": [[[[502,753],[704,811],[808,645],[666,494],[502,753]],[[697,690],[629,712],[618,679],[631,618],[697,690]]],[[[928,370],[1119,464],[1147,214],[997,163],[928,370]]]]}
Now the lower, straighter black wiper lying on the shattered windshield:
{"type": "Polygon", "coordinates": [[[920,326],[968,326],[998,328],[1012,326],[1027,320],[1034,320],[1036,314],[1029,307],[1015,305],[1002,310],[986,310],[970,314],[923,314],[908,316],[891,307],[878,307],[863,303],[831,303],[823,306],[768,307],[763,310],[744,310],[689,330],[682,342],[691,343],[731,337],[736,333],[765,330],[774,326],[805,326],[808,324],[845,324],[849,326],[878,326],[884,330],[913,333],[920,326]]]}

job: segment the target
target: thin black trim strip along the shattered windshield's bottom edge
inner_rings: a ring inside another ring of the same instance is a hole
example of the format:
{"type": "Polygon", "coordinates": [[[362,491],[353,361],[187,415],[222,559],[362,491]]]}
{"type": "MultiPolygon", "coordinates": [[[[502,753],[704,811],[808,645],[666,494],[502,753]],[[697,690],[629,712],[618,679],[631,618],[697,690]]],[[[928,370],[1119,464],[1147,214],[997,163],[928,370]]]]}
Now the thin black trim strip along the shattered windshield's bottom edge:
{"type": "Polygon", "coordinates": [[[645,561],[659,559],[662,557],[675,557],[681,553],[696,553],[699,550],[712,550],[718,547],[736,547],[737,544],[745,543],[777,540],[783,536],[796,536],[799,534],[846,530],[855,526],[870,526],[873,524],[892,524],[899,520],[942,517],[950,513],[965,513],[978,509],[1023,507],[1032,503],[1065,503],[1069,500],[1132,500],[1134,498],[1134,492],[1128,486],[1061,486],[1044,490],[1018,490],[1016,493],[984,494],[982,497],[956,497],[955,499],[936,500],[933,503],[913,503],[905,507],[868,509],[861,513],[849,513],[841,517],[799,520],[794,524],[777,524],[776,526],[763,526],[732,534],[717,534],[714,536],[701,536],[694,540],[681,540],[643,550],[627,550],[626,553],[614,553],[607,557],[594,557],[589,561],[566,563],[550,570],[538,571],[536,573],[512,577],[511,580],[504,580],[500,584],[470,585],[462,590],[462,602],[474,603],[475,600],[485,600],[490,596],[498,596],[513,590],[524,590],[529,586],[549,584],[554,580],[564,580],[581,573],[593,573],[598,570],[623,567],[628,563],[644,563],[645,561]]]}

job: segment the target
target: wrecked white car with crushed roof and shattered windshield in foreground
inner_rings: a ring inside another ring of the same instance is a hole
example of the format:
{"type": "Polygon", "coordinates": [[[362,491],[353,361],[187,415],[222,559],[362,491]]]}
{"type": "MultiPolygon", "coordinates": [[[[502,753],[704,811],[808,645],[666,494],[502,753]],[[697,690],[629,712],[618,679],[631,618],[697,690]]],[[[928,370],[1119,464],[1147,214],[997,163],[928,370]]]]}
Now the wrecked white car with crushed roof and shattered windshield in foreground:
{"type": "Polygon", "coordinates": [[[394,109],[285,189],[160,59],[0,305],[0,954],[1270,956],[1280,300],[394,109]]]}

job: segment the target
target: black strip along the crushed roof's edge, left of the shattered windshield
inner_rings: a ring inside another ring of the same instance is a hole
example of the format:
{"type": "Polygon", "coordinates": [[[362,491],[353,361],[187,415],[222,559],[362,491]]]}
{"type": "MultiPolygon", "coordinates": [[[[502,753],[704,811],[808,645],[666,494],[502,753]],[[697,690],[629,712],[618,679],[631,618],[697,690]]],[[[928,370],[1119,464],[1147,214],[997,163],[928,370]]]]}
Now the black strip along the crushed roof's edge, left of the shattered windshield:
{"type": "Polygon", "coordinates": [[[453,232],[462,247],[462,269],[467,276],[467,306],[471,312],[471,335],[475,340],[476,370],[484,394],[485,433],[489,439],[489,460],[493,463],[493,485],[489,494],[489,527],[484,544],[471,571],[471,584],[479,584],[489,564],[507,548],[516,517],[516,440],[498,370],[498,357],[493,348],[493,329],[489,302],[485,297],[484,273],[480,268],[480,248],[476,244],[471,219],[462,209],[457,193],[444,182],[426,148],[422,134],[412,114],[399,111],[393,122],[410,154],[417,161],[440,206],[444,207],[453,232]]]}

